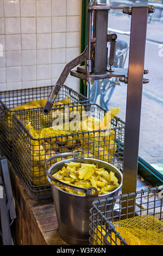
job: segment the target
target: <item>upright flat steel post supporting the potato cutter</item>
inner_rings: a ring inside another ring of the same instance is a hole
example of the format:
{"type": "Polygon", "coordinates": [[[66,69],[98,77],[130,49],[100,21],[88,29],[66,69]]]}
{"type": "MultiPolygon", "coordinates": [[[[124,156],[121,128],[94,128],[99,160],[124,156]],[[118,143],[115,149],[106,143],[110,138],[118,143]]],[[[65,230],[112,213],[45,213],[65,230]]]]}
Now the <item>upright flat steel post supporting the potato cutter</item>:
{"type": "Polygon", "coordinates": [[[133,4],[131,15],[126,131],[124,137],[123,194],[136,191],[148,4],[133,4]]]}

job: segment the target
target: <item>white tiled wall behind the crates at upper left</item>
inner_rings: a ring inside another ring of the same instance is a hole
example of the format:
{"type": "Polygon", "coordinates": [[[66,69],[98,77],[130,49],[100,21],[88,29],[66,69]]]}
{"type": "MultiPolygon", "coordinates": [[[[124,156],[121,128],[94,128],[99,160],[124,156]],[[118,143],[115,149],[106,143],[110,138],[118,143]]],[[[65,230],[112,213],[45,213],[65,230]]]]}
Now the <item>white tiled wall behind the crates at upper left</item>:
{"type": "Polygon", "coordinates": [[[81,15],[82,0],[0,0],[0,91],[54,84],[80,54],[81,15]]]}

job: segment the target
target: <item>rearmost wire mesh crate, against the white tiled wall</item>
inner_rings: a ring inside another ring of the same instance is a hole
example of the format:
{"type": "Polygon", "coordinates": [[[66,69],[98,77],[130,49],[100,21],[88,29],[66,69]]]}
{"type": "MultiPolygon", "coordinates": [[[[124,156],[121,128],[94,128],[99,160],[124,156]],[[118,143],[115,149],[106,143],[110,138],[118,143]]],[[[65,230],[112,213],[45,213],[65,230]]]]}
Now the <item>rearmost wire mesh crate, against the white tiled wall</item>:
{"type": "MultiPolygon", "coordinates": [[[[0,92],[0,143],[1,150],[9,160],[11,160],[12,152],[12,114],[19,111],[13,108],[24,105],[30,101],[47,99],[48,95],[51,93],[52,87],[53,86],[46,86],[0,92]]],[[[87,98],[82,94],[77,93],[67,86],[63,86],[56,101],[66,99],[67,97],[71,102],[88,102],[87,98]]]]}

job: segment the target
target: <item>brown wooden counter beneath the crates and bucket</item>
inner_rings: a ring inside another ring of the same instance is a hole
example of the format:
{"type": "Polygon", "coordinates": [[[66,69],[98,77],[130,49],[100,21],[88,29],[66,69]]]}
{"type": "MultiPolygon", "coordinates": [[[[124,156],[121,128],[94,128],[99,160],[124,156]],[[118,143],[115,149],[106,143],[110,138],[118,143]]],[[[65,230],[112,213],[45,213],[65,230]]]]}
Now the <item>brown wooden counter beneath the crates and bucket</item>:
{"type": "MultiPolygon", "coordinates": [[[[58,232],[53,199],[33,201],[24,190],[11,163],[8,162],[17,218],[11,226],[15,245],[66,245],[58,232]]],[[[137,188],[152,187],[137,179],[137,188]]]]}

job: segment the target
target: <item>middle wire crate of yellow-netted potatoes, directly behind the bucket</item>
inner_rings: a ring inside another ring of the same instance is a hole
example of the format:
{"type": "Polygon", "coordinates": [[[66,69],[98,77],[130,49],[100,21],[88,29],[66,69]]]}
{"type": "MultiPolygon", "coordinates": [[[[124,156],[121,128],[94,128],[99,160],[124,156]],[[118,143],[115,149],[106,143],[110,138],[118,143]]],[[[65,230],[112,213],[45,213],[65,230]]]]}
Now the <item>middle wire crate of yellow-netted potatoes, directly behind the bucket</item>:
{"type": "Polygon", "coordinates": [[[56,107],[47,116],[40,109],[24,110],[13,115],[12,164],[21,176],[30,198],[41,200],[52,197],[44,170],[45,161],[55,154],[83,150],[85,157],[104,160],[122,169],[124,122],[117,117],[112,119],[107,136],[106,130],[93,130],[94,126],[88,122],[102,120],[105,114],[106,111],[98,105],[76,103],[69,107],[56,107]],[[56,125],[61,117],[63,125],[56,125]]]}

